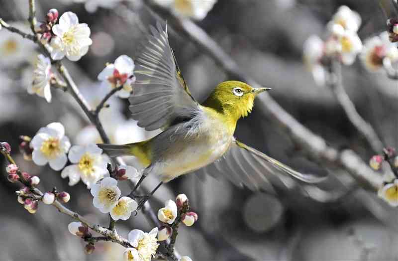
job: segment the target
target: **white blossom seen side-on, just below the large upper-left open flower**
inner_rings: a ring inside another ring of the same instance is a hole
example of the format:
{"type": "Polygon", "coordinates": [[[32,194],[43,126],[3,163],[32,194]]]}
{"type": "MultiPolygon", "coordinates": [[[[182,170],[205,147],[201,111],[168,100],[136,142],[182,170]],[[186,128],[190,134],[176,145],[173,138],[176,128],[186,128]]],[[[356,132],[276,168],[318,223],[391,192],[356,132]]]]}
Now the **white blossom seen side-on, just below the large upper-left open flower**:
{"type": "Polygon", "coordinates": [[[33,71],[33,82],[28,85],[29,94],[37,94],[51,102],[51,60],[42,54],[37,55],[35,69],[33,71]]]}

